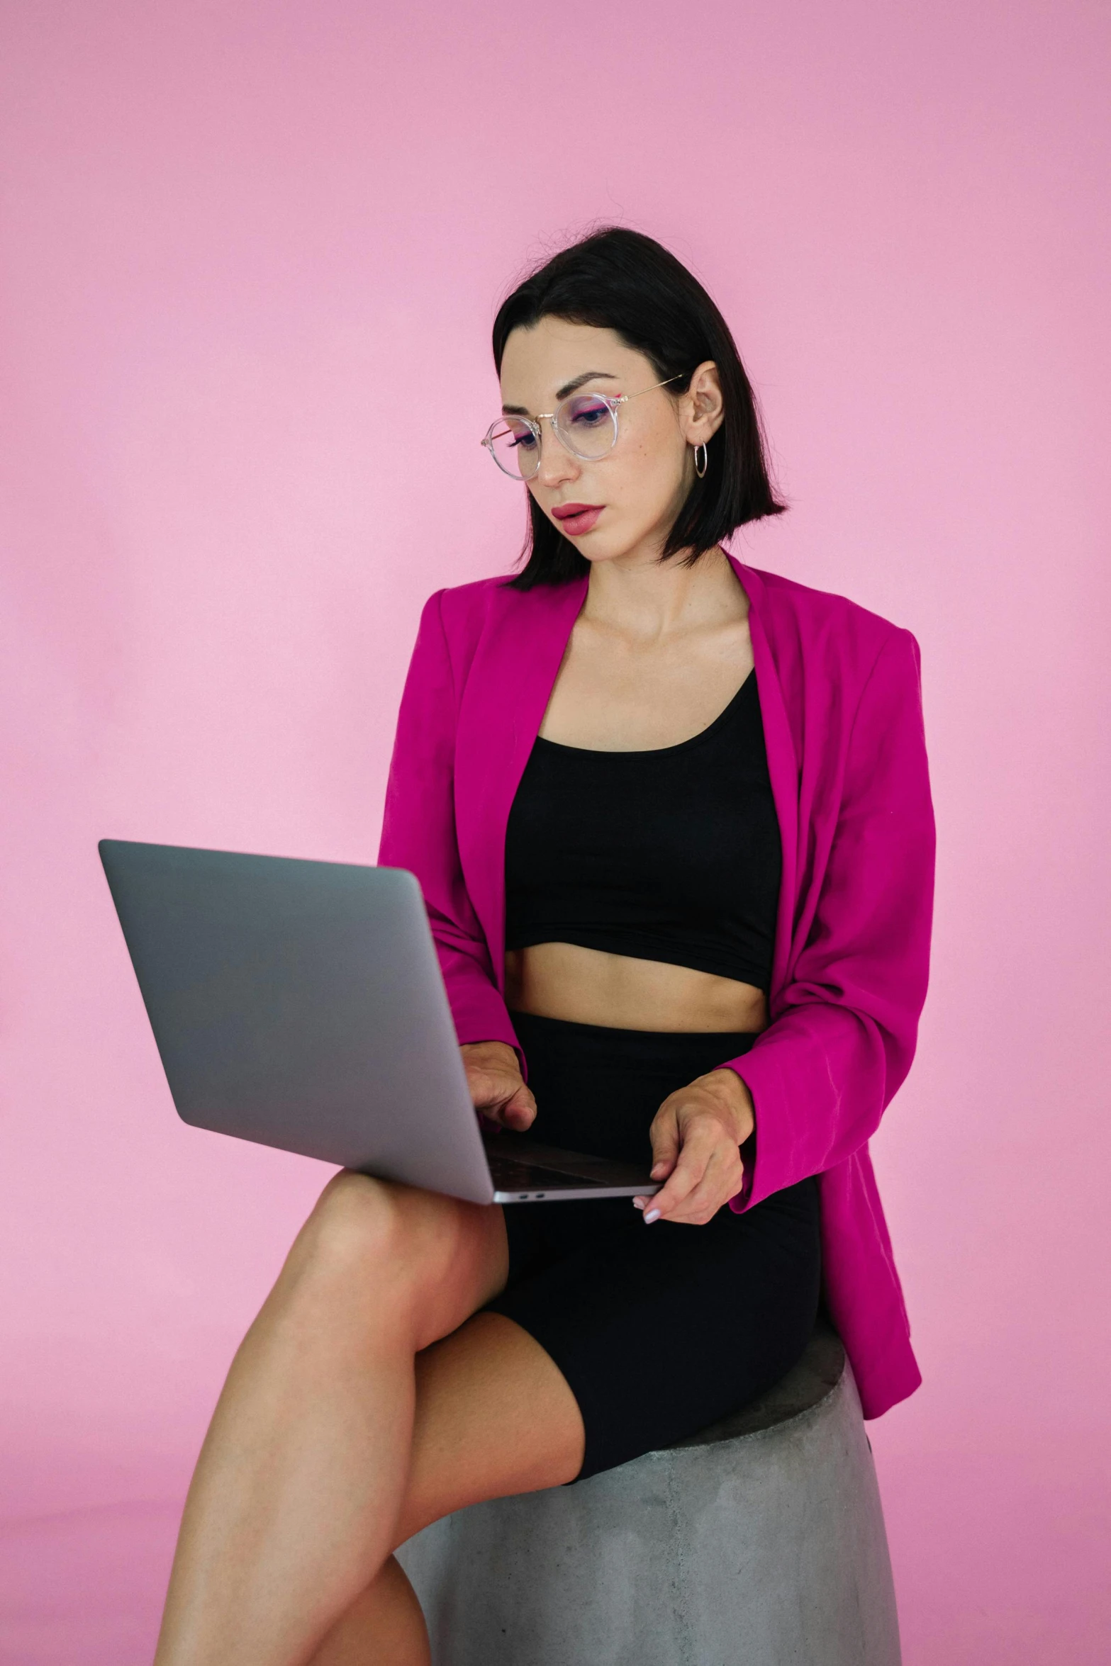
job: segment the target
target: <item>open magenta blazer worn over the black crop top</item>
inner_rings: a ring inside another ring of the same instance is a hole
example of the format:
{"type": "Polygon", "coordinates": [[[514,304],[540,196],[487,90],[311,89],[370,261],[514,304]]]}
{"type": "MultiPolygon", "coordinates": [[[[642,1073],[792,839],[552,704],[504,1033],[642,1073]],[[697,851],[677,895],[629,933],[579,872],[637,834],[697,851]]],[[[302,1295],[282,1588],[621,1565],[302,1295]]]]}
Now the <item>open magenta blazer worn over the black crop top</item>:
{"type": "MultiPolygon", "coordinates": [[[[826,1299],[874,1418],[921,1381],[868,1156],[926,996],[934,826],[918,643],[843,596],[733,566],[783,886],[771,1023],[731,1061],[756,1106],[756,1158],[730,1208],[821,1176],[826,1299]]],[[[505,830],[585,595],[586,580],[518,591],[488,578],[438,591],[421,615],[378,860],[421,883],[460,1041],[518,1046],[505,830]]]]}

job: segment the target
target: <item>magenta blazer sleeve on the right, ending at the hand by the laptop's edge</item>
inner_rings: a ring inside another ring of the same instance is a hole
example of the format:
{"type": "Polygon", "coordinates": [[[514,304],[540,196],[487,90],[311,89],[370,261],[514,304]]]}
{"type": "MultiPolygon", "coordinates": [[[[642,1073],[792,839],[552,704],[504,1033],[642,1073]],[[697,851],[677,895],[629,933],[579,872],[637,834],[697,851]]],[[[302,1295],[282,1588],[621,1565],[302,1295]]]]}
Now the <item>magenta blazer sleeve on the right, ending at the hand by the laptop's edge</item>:
{"type": "Polygon", "coordinates": [[[874,1133],[914,1056],[933,868],[918,643],[898,631],[856,708],[813,926],[773,1023],[726,1066],[756,1108],[735,1211],[833,1168],[874,1133]]]}

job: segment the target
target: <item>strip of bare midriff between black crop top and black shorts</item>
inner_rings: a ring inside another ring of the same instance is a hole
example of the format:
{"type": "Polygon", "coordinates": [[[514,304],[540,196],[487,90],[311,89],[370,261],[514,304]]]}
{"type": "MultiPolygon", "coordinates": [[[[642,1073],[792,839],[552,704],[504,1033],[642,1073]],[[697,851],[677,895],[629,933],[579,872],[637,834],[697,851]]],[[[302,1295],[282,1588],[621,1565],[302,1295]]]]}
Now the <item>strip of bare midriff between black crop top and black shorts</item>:
{"type": "Polygon", "coordinates": [[[768,1000],[751,983],[576,943],[508,950],[505,993],[511,1011],[610,1030],[768,1028],[768,1000]]]}

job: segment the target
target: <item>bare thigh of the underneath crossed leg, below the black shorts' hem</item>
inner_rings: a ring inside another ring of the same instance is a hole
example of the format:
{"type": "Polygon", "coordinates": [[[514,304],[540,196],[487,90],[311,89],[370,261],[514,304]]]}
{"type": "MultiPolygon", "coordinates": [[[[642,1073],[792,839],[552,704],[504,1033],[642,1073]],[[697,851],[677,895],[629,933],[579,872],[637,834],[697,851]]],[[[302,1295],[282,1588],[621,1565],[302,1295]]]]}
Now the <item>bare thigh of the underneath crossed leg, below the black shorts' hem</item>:
{"type": "Polygon", "coordinates": [[[571,1481],[583,1418],[538,1341],[475,1313],[416,1356],[416,1414],[396,1544],[453,1509],[571,1481]]]}

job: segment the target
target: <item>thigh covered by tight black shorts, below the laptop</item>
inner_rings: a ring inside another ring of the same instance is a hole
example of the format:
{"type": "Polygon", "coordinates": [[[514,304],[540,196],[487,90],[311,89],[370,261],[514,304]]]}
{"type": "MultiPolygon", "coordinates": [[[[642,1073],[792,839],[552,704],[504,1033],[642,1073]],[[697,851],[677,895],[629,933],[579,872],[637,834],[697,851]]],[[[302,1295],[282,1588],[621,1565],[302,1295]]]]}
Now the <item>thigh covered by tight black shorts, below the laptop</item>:
{"type": "Polygon", "coordinates": [[[560,1368],[586,1429],[586,1478],[770,1388],[806,1346],[820,1288],[808,1180],[706,1226],[600,1221],[561,1253],[541,1246],[488,1311],[515,1319],[560,1368]]]}

